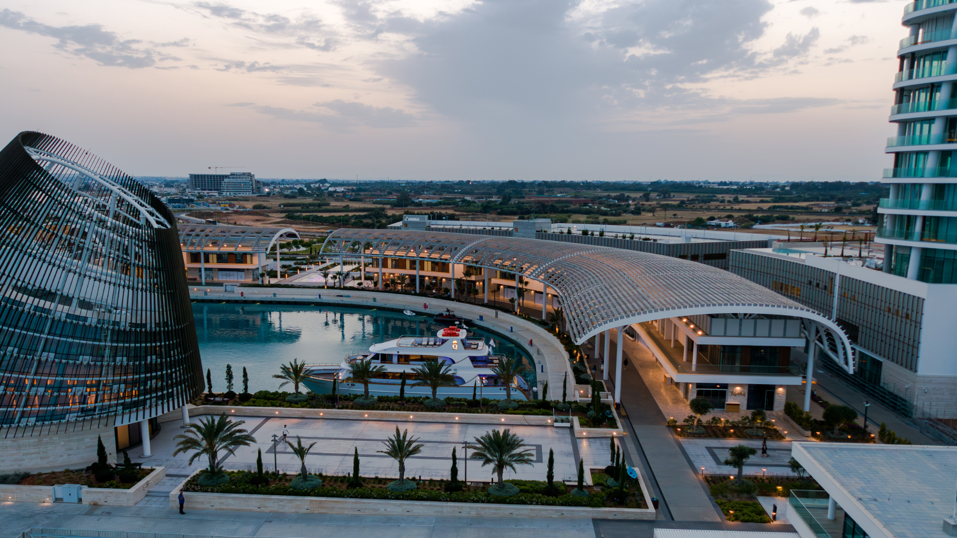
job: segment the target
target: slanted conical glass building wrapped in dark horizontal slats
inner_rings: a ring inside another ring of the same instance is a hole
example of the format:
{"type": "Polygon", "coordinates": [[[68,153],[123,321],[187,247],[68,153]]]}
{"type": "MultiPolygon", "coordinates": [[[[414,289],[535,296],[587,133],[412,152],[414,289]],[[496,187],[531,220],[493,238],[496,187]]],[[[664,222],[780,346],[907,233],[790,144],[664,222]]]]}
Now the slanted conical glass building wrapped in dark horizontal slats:
{"type": "Polygon", "coordinates": [[[88,151],[17,135],[0,151],[0,466],[49,436],[92,461],[83,432],[112,447],[202,388],[172,213],[88,151]]]}

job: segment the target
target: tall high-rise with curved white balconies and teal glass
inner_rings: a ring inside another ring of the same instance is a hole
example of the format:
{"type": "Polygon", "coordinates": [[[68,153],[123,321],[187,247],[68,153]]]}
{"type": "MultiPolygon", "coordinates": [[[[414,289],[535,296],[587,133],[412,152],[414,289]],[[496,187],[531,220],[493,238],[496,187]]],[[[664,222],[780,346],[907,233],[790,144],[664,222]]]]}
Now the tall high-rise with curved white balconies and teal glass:
{"type": "Polygon", "coordinates": [[[904,8],[900,72],[894,81],[880,200],[884,271],[929,283],[957,283],[957,3],[919,0],[904,8]]]}

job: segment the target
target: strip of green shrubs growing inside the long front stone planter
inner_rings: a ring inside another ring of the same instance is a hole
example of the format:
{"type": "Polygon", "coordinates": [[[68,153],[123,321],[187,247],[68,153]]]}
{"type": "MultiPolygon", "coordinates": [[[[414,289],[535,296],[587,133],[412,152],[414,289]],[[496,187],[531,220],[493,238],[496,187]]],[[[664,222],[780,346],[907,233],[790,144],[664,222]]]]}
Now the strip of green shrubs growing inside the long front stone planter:
{"type": "MultiPolygon", "coordinates": [[[[363,478],[363,487],[349,489],[346,483],[350,479],[346,477],[323,476],[323,486],[310,490],[293,489],[290,482],[294,475],[266,475],[270,481],[265,484],[255,485],[250,483],[250,479],[255,473],[249,471],[227,471],[230,475],[230,482],[214,486],[202,486],[197,482],[196,476],[190,478],[184,485],[184,492],[194,493],[227,493],[237,495],[278,495],[278,496],[296,496],[296,497],[324,497],[339,499],[375,499],[375,500],[393,500],[393,501],[432,501],[442,503],[480,503],[480,504],[535,504],[545,506],[586,506],[591,508],[602,507],[622,507],[614,503],[611,499],[606,499],[607,493],[596,491],[594,487],[586,487],[589,492],[588,497],[577,497],[571,495],[574,489],[571,486],[565,486],[562,482],[554,482],[559,488],[564,488],[566,493],[557,497],[549,497],[541,492],[545,488],[545,482],[538,481],[505,481],[516,485],[519,493],[511,497],[501,497],[491,495],[486,492],[487,486],[465,485],[463,491],[449,493],[444,491],[446,481],[422,481],[418,483],[419,488],[413,491],[401,493],[392,492],[386,489],[386,484],[392,482],[392,479],[385,478],[363,478]]],[[[624,507],[644,508],[644,498],[641,490],[633,486],[632,503],[624,507]]]]}

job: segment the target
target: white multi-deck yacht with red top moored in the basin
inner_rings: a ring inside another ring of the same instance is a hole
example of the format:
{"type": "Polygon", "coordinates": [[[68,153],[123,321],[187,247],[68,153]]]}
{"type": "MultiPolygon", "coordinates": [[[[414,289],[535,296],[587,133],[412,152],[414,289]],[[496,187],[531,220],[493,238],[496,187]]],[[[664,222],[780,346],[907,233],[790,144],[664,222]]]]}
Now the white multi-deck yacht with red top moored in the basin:
{"type": "MultiPolygon", "coordinates": [[[[363,394],[362,383],[348,381],[349,365],[371,359],[372,364],[384,366],[368,384],[370,396],[398,395],[400,376],[406,372],[406,395],[432,396],[428,386],[413,386],[416,374],[413,369],[427,361],[439,361],[449,365],[449,372],[455,376],[455,387],[440,387],[436,395],[439,398],[454,396],[471,398],[473,390],[476,397],[505,399],[505,387],[492,369],[499,365],[504,357],[492,353],[483,338],[469,338],[464,327],[451,326],[431,336],[401,336],[395,340],[375,344],[368,353],[345,357],[342,363],[310,365],[308,376],[303,384],[312,392],[327,394],[332,392],[332,380],[337,380],[336,392],[343,394],[363,394]]],[[[512,383],[512,399],[528,399],[529,386],[522,376],[516,376],[512,383]]]]}

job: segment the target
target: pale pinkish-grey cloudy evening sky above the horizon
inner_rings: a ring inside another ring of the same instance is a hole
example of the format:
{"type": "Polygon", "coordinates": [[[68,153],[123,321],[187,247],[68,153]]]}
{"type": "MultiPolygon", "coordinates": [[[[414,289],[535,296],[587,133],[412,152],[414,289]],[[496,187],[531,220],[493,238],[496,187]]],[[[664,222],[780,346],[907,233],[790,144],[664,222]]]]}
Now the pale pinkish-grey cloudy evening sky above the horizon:
{"type": "Polygon", "coordinates": [[[877,181],[904,5],[0,0],[0,139],[153,176],[877,181]]]}

